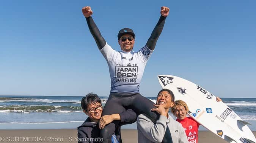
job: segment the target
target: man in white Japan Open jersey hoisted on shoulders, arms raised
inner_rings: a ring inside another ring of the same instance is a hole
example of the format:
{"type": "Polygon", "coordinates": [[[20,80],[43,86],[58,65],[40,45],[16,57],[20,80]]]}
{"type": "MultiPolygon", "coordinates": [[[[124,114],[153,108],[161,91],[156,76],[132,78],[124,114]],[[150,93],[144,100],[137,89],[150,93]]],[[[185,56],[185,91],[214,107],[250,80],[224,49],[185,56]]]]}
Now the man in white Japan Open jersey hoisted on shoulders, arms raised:
{"type": "MultiPolygon", "coordinates": [[[[110,95],[102,115],[116,114],[127,109],[132,109],[137,114],[147,115],[154,123],[156,123],[159,114],[151,111],[151,108],[155,108],[154,103],[140,94],[140,81],[146,63],[154,51],[157,39],[163,30],[165,19],[168,16],[169,11],[170,9],[168,7],[161,7],[161,16],[146,45],[138,52],[133,52],[132,49],[135,43],[135,34],[132,29],[123,28],[118,32],[118,44],[120,45],[121,51],[115,51],[107,44],[94,23],[93,18],[91,17],[93,14],[91,7],[85,6],[82,8],[89,30],[93,35],[99,50],[107,60],[110,72],[110,95]]],[[[110,138],[118,123],[119,121],[113,121],[101,130],[101,137],[104,139],[103,143],[111,143],[110,138]]],[[[171,142],[171,137],[165,136],[163,142],[165,141],[171,142]]]]}

